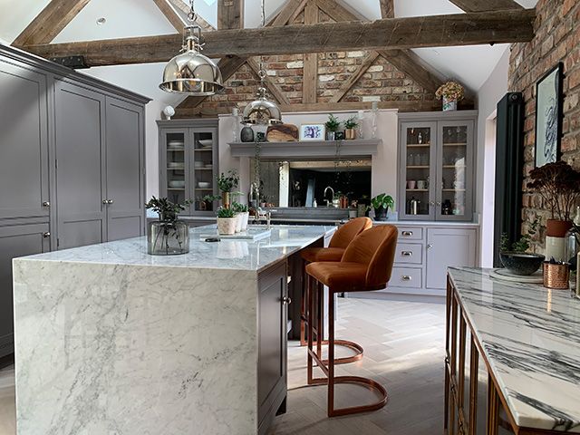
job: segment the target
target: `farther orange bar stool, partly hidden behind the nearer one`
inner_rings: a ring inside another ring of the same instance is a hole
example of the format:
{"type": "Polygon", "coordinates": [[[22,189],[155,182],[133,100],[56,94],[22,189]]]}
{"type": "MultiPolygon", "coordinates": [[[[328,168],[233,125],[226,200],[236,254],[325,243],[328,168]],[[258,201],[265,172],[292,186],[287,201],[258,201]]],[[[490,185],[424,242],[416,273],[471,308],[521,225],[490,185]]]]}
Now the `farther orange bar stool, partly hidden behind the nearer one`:
{"type": "MultiPolygon", "coordinates": [[[[354,237],[357,237],[362,233],[362,231],[369,229],[370,227],[372,227],[372,220],[370,218],[353,218],[349,220],[336,230],[330,241],[329,247],[309,247],[303,249],[301,255],[304,259],[304,267],[309,263],[320,261],[341,261],[346,247],[349,246],[354,237]]],[[[307,278],[304,274],[304,283],[306,283],[306,281],[307,278]]],[[[307,343],[305,333],[306,317],[308,315],[308,306],[306,304],[306,301],[308,300],[307,289],[308,285],[304,284],[302,286],[302,301],[300,305],[300,344],[303,346],[307,343]]],[[[320,308],[320,306],[317,306],[316,311],[320,311],[320,308]]],[[[316,333],[318,333],[318,331],[316,331],[316,333]]],[[[320,334],[321,336],[324,335],[322,331],[322,323],[320,334]]],[[[322,344],[326,343],[327,342],[324,341],[322,344]]],[[[338,358],[335,363],[345,364],[358,361],[362,358],[362,347],[358,344],[346,340],[337,341],[336,344],[350,348],[354,352],[354,355],[338,358]]]]}

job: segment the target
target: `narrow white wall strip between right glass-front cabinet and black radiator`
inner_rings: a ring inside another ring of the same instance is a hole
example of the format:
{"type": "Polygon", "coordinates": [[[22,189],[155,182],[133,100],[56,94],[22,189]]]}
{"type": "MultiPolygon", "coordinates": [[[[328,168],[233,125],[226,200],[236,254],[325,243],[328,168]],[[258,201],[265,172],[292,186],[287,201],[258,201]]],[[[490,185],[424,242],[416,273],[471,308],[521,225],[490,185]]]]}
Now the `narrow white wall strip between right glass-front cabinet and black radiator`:
{"type": "Polygon", "coordinates": [[[502,54],[488,80],[478,91],[478,154],[476,212],[481,223],[481,266],[493,266],[495,200],[496,108],[507,92],[509,49],[502,54]]]}

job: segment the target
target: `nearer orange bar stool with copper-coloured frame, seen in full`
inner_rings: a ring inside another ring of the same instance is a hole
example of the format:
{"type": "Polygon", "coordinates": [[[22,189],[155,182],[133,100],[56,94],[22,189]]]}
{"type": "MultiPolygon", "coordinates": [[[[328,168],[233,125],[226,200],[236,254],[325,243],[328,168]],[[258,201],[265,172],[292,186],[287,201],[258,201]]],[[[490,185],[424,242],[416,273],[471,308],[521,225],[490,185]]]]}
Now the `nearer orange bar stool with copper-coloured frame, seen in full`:
{"type": "Polygon", "coordinates": [[[340,262],[318,262],[306,266],[306,274],[310,277],[310,287],[307,333],[308,333],[308,383],[310,385],[328,384],[328,416],[353,414],[357,412],[375,411],[381,409],[388,401],[384,387],[371,379],[359,376],[334,375],[334,295],[342,292],[367,292],[380,290],[391,279],[392,264],[397,246],[397,227],[382,225],[372,227],[354,238],[346,248],[340,262]],[[316,285],[319,284],[319,285],[316,285]],[[322,300],[321,285],[330,289],[328,304],[328,359],[322,359],[321,340],[316,336],[321,327],[321,316],[314,320],[314,300],[322,300]],[[318,328],[314,328],[314,322],[318,328]],[[316,336],[316,350],[314,350],[316,336]],[[325,378],[313,377],[313,362],[324,372],[325,378]],[[378,392],[382,399],[370,405],[334,408],[334,386],[337,383],[362,384],[370,390],[378,392]]]}

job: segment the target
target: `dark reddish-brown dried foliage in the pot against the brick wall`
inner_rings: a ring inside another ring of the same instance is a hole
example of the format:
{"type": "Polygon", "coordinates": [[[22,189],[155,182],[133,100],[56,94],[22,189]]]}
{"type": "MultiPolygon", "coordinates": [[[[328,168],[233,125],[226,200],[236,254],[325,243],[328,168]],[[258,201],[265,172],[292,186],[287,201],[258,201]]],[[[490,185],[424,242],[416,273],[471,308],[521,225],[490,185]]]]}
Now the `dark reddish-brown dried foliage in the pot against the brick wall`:
{"type": "Polygon", "coordinates": [[[529,176],[532,181],[527,187],[540,194],[552,219],[571,220],[572,209],[580,200],[580,172],[565,161],[556,161],[532,169],[529,176]]]}

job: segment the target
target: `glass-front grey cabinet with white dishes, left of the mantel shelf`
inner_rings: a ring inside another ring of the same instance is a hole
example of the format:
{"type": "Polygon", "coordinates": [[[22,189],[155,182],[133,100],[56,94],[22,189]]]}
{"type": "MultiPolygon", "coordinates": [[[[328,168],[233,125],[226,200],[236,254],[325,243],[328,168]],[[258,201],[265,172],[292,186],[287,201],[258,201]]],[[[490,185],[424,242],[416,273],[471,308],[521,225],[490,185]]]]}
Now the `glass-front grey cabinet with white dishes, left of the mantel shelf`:
{"type": "Polygon", "coordinates": [[[172,202],[190,199],[183,213],[214,216],[218,194],[218,121],[158,121],[160,131],[160,196],[172,202]]]}

